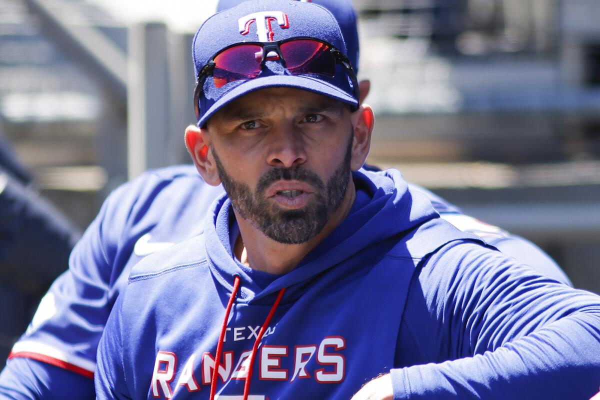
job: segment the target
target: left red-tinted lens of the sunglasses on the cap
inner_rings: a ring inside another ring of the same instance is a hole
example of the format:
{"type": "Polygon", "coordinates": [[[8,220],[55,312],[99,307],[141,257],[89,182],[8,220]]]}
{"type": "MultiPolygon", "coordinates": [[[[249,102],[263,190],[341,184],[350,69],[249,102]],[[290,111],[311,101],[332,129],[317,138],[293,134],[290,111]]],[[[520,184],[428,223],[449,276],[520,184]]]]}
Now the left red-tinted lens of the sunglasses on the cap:
{"type": "Polygon", "coordinates": [[[262,47],[256,44],[239,44],[229,47],[215,56],[212,78],[221,88],[236,80],[254,79],[260,74],[262,47]]]}

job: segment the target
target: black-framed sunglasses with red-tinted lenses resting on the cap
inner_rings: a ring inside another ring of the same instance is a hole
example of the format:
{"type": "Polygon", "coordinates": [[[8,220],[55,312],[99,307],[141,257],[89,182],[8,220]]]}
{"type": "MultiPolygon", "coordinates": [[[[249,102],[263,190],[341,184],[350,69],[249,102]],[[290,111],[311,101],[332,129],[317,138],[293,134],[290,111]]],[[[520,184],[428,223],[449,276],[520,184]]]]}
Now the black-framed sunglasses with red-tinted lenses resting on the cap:
{"type": "Polygon", "coordinates": [[[199,100],[206,79],[212,76],[216,88],[230,82],[256,79],[266,61],[280,60],[292,75],[320,74],[335,76],[341,64],[352,80],[354,98],[358,100],[358,81],[350,60],[331,44],[308,37],[284,39],[272,43],[242,42],[220,50],[198,73],[194,90],[194,111],[200,118],[199,100]]]}

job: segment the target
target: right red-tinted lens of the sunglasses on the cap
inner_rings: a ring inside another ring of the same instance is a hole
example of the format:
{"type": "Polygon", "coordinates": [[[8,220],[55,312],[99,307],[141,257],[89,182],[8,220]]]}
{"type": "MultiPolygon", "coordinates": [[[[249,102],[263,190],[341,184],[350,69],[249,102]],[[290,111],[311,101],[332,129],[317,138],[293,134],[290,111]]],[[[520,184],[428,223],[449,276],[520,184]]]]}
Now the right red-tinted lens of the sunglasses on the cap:
{"type": "Polygon", "coordinates": [[[314,40],[290,40],[280,45],[286,68],[293,75],[322,74],[334,76],[335,57],[331,47],[314,40]]]}

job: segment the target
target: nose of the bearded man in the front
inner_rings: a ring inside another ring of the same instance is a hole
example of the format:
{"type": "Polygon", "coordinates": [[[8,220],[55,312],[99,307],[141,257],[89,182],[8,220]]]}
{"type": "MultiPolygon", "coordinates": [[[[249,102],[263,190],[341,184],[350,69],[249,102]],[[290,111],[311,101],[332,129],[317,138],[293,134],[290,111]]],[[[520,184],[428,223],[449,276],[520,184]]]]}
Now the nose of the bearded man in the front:
{"type": "Polygon", "coordinates": [[[307,159],[302,132],[295,127],[282,127],[269,133],[267,163],[272,167],[292,168],[307,159]]]}

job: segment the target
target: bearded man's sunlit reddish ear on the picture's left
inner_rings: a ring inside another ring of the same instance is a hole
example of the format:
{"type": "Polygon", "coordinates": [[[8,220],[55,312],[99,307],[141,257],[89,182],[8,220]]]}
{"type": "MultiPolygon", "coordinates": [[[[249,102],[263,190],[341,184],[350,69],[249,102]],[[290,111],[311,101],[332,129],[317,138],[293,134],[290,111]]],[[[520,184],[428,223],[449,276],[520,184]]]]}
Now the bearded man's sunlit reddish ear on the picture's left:
{"type": "Polygon", "coordinates": [[[217,186],[221,183],[217,164],[212,157],[209,136],[206,130],[190,125],[185,128],[185,147],[191,155],[196,169],[207,184],[217,186]]]}

